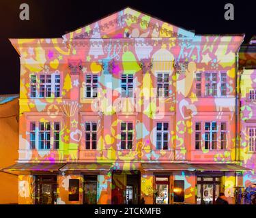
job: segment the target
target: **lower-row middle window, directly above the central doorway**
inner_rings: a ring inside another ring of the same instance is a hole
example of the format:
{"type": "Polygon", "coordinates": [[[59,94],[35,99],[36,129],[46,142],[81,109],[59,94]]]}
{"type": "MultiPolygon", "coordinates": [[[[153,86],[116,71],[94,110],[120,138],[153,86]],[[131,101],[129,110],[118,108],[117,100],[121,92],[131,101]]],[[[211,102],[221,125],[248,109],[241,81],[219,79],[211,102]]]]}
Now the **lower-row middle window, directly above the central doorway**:
{"type": "Polygon", "coordinates": [[[121,123],[121,149],[132,149],[133,125],[130,122],[121,123]]]}

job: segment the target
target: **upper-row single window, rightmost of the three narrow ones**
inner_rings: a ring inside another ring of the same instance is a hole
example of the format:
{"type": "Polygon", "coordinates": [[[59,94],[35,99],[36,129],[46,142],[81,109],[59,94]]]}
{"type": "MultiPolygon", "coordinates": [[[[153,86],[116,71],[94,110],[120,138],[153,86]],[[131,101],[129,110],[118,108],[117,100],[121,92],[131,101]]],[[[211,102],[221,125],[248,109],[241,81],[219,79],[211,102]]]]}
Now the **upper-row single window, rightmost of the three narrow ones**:
{"type": "Polygon", "coordinates": [[[157,97],[169,96],[169,74],[157,74],[157,97]]]}

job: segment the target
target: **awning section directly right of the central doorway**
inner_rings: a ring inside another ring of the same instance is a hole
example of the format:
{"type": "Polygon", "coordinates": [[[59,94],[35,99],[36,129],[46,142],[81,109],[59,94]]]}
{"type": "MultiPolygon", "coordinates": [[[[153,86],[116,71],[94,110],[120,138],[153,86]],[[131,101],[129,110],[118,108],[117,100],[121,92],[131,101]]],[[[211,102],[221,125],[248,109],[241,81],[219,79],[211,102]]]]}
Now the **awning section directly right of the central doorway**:
{"type": "Polygon", "coordinates": [[[151,171],[193,170],[188,163],[142,163],[142,168],[151,171]]]}

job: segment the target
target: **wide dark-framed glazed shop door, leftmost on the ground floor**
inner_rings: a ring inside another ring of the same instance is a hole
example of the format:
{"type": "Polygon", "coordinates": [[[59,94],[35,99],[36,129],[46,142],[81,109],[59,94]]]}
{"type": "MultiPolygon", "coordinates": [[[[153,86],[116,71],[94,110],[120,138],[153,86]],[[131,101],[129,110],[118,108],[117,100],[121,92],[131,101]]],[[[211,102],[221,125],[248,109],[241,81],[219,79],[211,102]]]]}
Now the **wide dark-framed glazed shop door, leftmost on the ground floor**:
{"type": "Polygon", "coordinates": [[[57,176],[36,176],[35,204],[56,204],[57,176]]]}

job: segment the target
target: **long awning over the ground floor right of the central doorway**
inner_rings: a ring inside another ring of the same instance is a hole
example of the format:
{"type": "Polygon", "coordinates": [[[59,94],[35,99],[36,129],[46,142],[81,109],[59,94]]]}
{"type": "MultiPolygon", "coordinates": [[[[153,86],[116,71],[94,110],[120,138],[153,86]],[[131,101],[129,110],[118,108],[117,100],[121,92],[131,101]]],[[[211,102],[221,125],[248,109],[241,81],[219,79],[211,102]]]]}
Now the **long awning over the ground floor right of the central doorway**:
{"type": "Polygon", "coordinates": [[[171,171],[171,170],[188,170],[188,171],[246,171],[251,170],[234,163],[143,163],[144,170],[151,171],[171,171]]]}

